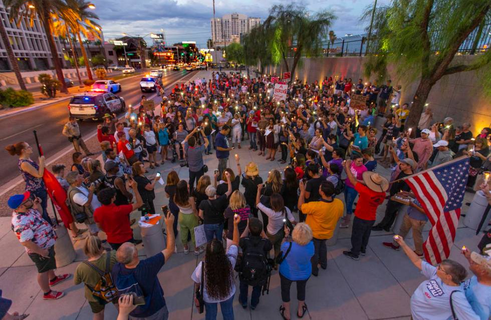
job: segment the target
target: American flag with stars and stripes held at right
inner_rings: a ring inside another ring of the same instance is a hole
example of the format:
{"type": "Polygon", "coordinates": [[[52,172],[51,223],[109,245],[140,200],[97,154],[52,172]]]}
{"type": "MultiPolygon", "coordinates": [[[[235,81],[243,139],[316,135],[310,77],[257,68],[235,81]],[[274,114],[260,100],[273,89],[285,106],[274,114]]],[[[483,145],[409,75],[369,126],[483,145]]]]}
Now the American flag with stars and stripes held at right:
{"type": "Polygon", "coordinates": [[[462,157],[406,180],[432,225],[423,252],[433,265],[450,255],[468,175],[469,157],[462,157]]]}

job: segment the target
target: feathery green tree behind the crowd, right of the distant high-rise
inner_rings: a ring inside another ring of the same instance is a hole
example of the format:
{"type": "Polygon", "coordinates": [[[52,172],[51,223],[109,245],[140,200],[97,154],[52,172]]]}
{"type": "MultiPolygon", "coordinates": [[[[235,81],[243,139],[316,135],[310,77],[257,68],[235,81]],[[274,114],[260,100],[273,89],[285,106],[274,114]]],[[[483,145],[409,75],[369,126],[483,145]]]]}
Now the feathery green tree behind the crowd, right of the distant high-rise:
{"type": "Polygon", "coordinates": [[[301,57],[320,56],[329,27],[335,19],[330,11],[321,11],[311,17],[305,7],[294,4],[273,6],[264,22],[271,39],[269,48],[273,62],[283,62],[286,70],[292,73],[292,79],[295,78],[301,57]],[[287,58],[292,47],[293,62],[289,64],[287,58]]]}

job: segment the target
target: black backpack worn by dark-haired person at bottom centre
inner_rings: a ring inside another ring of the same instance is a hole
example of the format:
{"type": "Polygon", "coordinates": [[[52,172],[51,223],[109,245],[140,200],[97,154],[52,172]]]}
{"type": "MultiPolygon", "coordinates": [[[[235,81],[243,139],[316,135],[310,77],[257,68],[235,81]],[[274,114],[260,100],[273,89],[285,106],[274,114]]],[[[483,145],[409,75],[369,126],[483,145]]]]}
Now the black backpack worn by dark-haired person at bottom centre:
{"type": "Polygon", "coordinates": [[[247,241],[248,245],[247,250],[242,253],[239,278],[248,285],[263,285],[271,273],[264,251],[266,239],[257,240],[246,237],[243,241],[247,241]]]}

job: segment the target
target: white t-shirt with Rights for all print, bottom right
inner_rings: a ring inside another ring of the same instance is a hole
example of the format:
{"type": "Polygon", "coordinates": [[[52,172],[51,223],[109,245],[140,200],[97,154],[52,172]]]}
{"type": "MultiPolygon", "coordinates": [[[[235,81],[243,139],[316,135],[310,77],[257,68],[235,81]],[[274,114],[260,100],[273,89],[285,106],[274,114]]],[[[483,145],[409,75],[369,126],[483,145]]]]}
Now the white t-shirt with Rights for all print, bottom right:
{"type": "Polygon", "coordinates": [[[436,267],[426,261],[421,262],[421,273],[428,278],[414,290],[411,296],[411,315],[414,320],[449,320],[453,319],[450,309],[450,293],[453,309],[459,320],[479,320],[472,311],[461,285],[450,286],[436,275],[436,267]]]}

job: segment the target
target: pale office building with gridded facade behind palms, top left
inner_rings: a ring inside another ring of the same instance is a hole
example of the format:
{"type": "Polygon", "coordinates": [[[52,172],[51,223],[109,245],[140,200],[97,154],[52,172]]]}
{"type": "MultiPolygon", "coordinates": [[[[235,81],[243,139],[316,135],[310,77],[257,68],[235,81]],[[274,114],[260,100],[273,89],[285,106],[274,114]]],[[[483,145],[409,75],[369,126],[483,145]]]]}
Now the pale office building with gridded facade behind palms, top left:
{"type": "MultiPolygon", "coordinates": [[[[16,22],[10,21],[10,15],[6,12],[4,3],[1,0],[0,16],[1,23],[7,30],[9,41],[21,70],[45,70],[53,67],[48,40],[38,18],[34,19],[33,26],[31,26],[28,19],[23,19],[18,27],[16,22]]],[[[67,65],[62,50],[63,46],[58,38],[55,38],[55,44],[62,66],[67,65]]],[[[11,69],[7,58],[7,50],[4,43],[0,41],[0,70],[11,69]]]]}

